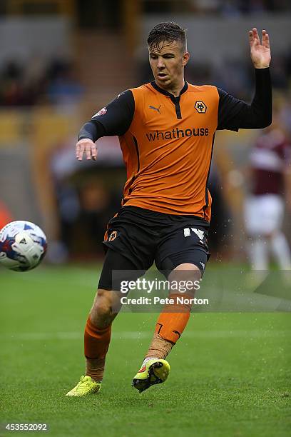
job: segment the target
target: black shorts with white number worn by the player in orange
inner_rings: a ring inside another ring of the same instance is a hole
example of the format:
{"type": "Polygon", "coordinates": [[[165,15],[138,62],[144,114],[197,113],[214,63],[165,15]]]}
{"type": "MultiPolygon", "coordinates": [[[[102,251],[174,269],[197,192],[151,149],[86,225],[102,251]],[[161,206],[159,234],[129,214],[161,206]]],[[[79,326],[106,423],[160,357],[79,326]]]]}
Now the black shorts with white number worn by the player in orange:
{"type": "Polygon", "coordinates": [[[147,271],[155,266],[166,277],[182,263],[204,273],[209,258],[209,223],[195,216],[163,214],[123,206],[108,223],[103,241],[106,260],[98,288],[112,289],[113,270],[147,271]]]}

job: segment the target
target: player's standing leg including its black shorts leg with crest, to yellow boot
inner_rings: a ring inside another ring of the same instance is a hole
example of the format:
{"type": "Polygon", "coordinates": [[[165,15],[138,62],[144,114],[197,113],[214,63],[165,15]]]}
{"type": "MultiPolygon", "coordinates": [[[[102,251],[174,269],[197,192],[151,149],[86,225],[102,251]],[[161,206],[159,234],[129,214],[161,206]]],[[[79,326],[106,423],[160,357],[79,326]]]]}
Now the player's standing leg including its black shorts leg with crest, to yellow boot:
{"type": "MultiPolygon", "coordinates": [[[[80,396],[73,394],[80,390],[81,396],[91,393],[90,385],[94,383],[101,386],[111,323],[121,306],[120,292],[112,290],[121,290],[121,281],[136,281],[153,264],[158,228],[164,228],[158,215],[155,211],[126,206],[108,223],[103,241],[108,252],[99,281],[100,290],[85,329],[86,377],[89,380],[81,380],[81,384],[68,393],[69,396],[80,396]]],[[[95,387],[96,391],[100,390],[100,387],[95,387]]]]}

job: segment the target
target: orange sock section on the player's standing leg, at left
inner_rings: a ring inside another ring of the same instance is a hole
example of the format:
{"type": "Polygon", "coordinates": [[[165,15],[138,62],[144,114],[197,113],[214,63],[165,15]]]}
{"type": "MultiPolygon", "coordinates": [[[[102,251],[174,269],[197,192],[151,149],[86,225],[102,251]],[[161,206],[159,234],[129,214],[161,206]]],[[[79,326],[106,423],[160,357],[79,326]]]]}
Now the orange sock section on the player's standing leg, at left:
{"type": "Polygon", "coordinates": [[[88,317],[85,334],[84,348],[86,358],[105,358],[111,338],[111,324],[99,329],[94,326],[88,317]]]}

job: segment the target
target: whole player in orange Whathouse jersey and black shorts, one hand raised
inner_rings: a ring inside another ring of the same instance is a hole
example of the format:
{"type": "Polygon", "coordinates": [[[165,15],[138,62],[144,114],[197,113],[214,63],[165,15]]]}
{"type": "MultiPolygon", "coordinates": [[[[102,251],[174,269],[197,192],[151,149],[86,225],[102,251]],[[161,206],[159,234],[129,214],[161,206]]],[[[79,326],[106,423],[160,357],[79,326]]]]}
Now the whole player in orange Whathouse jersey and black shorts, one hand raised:
{"type": "MultiPolygon", "coordinates": [[[[232,36],[233,37],[233,36],[232,36]]],[[[148,36],[154,81],[128,89],[98,111],[78,135],[78,160],[97,158],[95,141],[118,135],[128,180],[122,208],[108,223],[98,293],[85,328],[86,376],[68,396],[85,396],[101,388],[111,338],[113,271],[146,271],[155,265],[169,281],[193,283],[208,261],[207,236],[211,196],[208,175],[217,129],[258,129],[272,121],[269,36],[249,32],[255,67],[252,104],[215,86],[194,86],[184,80],[190,55],[185,30],[178,24],[157,24],[148,36]]],[[[193,291],[194,293],[194,291],[193,291]]],[[[193,297],[189,291],[185,297],[193,297]]],[[[190,306],[165,306],[155,326],[141,369],[133,378],[138,391],[165,381],[165,361],[183,333],[190,306]]]]}

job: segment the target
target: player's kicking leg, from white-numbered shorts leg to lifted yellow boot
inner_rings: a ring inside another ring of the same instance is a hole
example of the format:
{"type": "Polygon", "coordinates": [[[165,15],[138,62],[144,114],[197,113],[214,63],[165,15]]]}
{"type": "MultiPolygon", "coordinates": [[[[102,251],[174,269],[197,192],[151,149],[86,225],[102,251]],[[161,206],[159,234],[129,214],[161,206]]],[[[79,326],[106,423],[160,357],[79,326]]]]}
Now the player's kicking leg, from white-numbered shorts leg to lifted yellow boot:
{"type": "Polygon", "coordinates": [[[189,218],[177,218],[176,223],[175,218],[172,220],[173,226],[165,228],[158,244],[155,265],[170,283],[184,285],[188,281],[190,288],[187,287],[187,293],[179,293],[177,288],[182,291],[182,287],[172,287],[172,291],[170,287],[169,304],[158,317],[143,365],[133,378],[133,386],[140,392],[168,378],[170,366],[165,357],[188,323],[191,311],[189,301],[199,288],[197,283],[203,276],[209,258],[208,228],[191,223],[189,218]]]}

